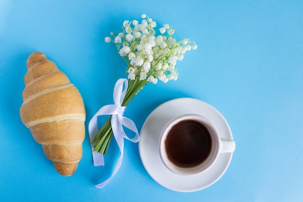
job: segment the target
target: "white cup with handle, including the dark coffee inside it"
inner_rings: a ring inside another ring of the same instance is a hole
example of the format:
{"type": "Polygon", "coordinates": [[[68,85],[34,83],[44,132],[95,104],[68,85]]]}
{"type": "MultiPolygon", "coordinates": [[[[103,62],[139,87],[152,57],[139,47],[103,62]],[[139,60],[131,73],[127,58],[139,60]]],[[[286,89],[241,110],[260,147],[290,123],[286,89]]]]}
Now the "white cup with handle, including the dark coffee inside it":
{"type": "Polygon", "coordinates": [[[215,125],[197,114],[171,119],[162,129],[159,152],[168,170],[179,175],[208,170],[220,153],[235,150],[235,141],[220,138],[215,125]]]}

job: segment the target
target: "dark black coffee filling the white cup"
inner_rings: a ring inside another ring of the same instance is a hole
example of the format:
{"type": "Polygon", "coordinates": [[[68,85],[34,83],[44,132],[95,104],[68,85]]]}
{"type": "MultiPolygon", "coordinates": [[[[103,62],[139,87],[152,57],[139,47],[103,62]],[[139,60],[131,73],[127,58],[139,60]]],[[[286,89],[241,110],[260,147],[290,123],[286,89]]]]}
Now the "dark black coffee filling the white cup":
{"type": "Polygon", "coordinates": [[[211,152],[212,139],[204,124],[183,120],[168,132],[165,141],[168,159],[179,167],[194,167],[202,163],[211,152]]]}

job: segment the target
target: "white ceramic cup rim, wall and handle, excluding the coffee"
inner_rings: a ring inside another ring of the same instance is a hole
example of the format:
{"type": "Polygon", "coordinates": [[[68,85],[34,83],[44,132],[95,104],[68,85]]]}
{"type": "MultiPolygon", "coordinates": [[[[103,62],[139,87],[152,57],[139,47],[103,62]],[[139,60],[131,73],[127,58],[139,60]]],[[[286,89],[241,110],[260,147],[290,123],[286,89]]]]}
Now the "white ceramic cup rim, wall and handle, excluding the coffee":
{"type": "Polygon", "coordinates": [[[220,138],[220,134],[218,133],[214,124],[212,124],[212,122],[207,118],[197,114],[184,114],[171,119],[162,129],[159,138],[159,152],[164,165],[167,167],[167,169],[179,175],[190,175],[206,171],[217,160],[220,153],[234,152],[235,147],[236,144],[234,140],[220,138]],[[201,163],[192,167],[177,166],[168,158],[166,150],[166,139],[169,131],[176,124],[185,120],[195,120],[203,124],[207,128],[209,137],[211,139],[211,149],[209,151],[209,155],[201,163]]]}

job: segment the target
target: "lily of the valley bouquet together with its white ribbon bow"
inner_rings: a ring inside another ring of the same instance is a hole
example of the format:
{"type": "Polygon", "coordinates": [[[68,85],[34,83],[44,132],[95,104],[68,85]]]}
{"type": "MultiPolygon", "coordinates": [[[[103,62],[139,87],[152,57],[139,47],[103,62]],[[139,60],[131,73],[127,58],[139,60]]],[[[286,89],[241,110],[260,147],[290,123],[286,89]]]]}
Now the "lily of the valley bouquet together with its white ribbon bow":
{"type": "Polygon", "coordinates": [[[141,17],[143,18],[141,23],[137,20],[125,20],[121,33],[115,35],[111,32],[112,37],[105,37],[105,42],[113,42],[120,56],[127,63],[128,79],[117,81],[114,88],[115,105],[106,105],[99,109],[89,124],[95,166],[104,165],[103,155],[106,154],[113,135],[121,151],[114,173],[105,182],[97,185],[98,188],[104,187],[119,170],[123,156],[123,139],[133,142],[139,140],[136,125],[122,116],[126,106],[147,83],[156,84],[158,80],[167,83],[169,80],[177,80],[176,62],[182,61],[186,51],[197,48],[195,42],[189,39],[177,42],[172,37],[175,30],[168,24],[159,29],[161,34],[156,35],[154,30],[157,26],[156,22],[144,14],[141,17]],[[110,117],[99,130],[97,116],[106,114],[110,117]],[[123,125],[134,131],[136,136],[128,138],[123,125]],[[96,135],[93,138],[94,134],[96,135]]]}

